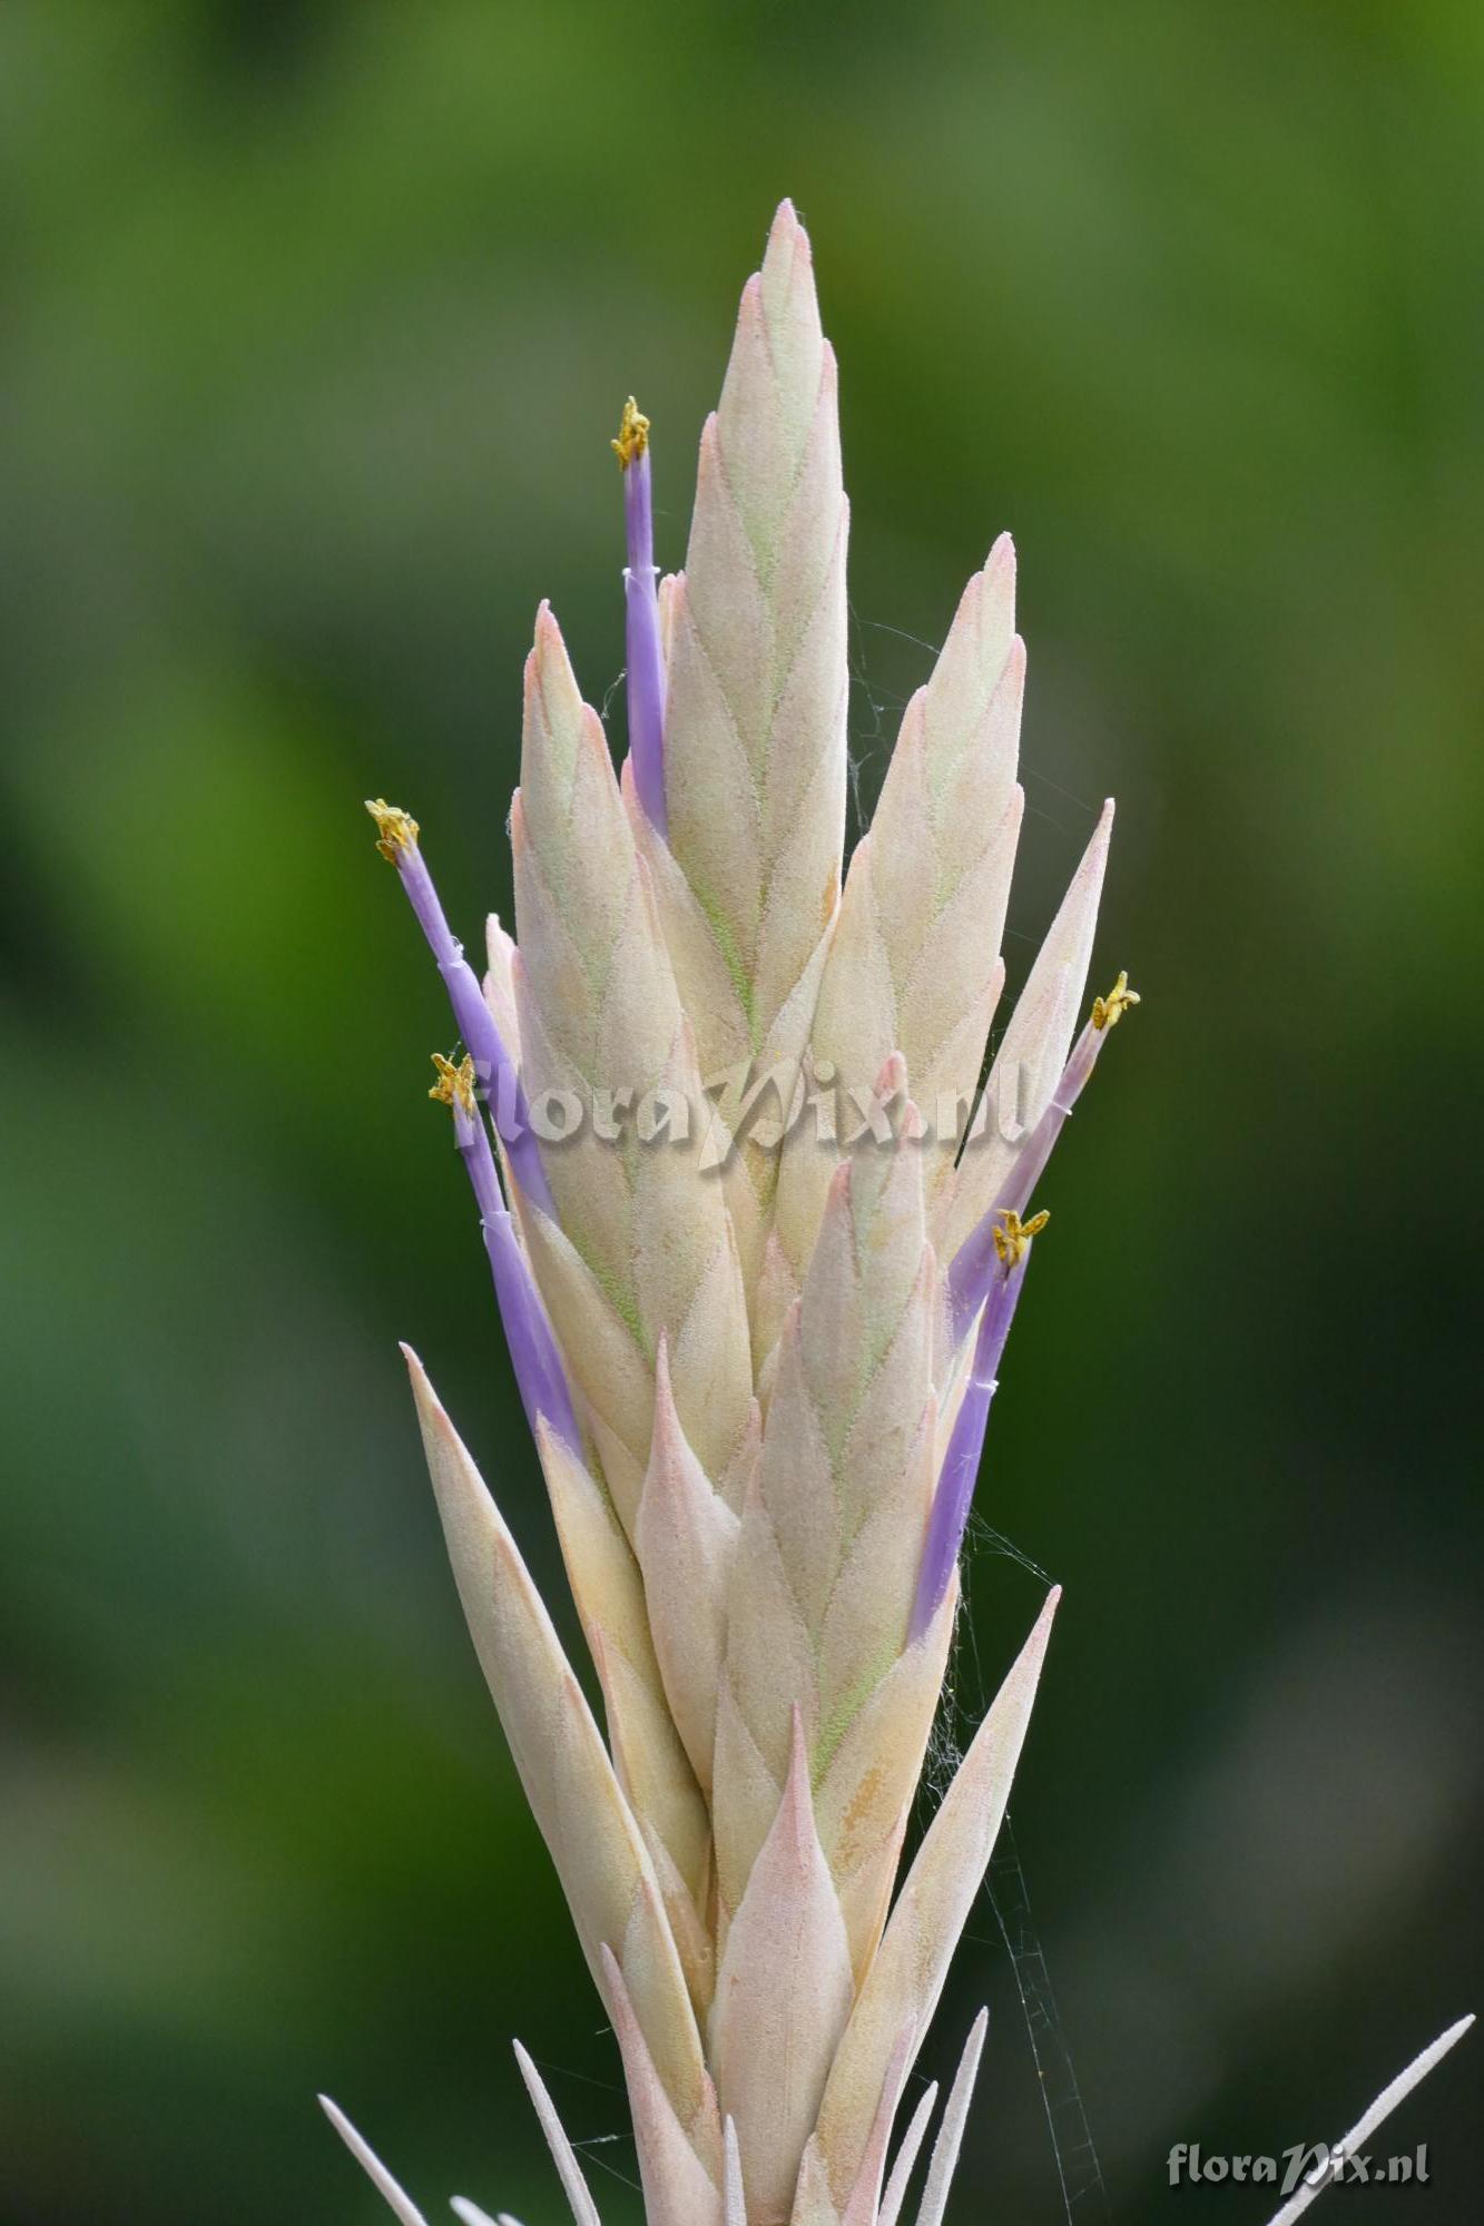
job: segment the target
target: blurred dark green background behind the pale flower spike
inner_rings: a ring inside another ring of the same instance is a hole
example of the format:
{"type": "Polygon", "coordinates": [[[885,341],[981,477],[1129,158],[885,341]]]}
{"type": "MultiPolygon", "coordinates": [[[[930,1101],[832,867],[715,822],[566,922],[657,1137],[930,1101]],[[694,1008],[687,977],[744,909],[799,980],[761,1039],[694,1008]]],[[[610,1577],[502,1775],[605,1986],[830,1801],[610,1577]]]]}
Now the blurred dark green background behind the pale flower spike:
{"type": "MultiPolygon", "coordinates": [[[[1145,995],[980,1489],[1067,1587],[1014,1803],[1056,2144],[985,1903],[951,2215],[1056,2226],[1061,2150],[1103,2217],[1074,2084],[1119,2219],[1261,2219],[1170,2144],[1335,2135],[1477,2003],[1482,91],[1464,0],[9,0],[7,2226],[370,2226],[314,2088],[430,2217],[539,2226],[512,2030],[635,2217],[397,1358],[555,1589],[361,797],[470,942],[508,913],[535,603],[604,701],[617,405],[673,565],[784,191],[862,795],[1014,528],[1012,984],[1114,790],[1096,975],[1145,995]]],[[[980,1540],[960,1725],[1041,1589],[980,1540]]],[[[1482,2064],[1370,2217],[1477,2217],[1482,2064]]]]}

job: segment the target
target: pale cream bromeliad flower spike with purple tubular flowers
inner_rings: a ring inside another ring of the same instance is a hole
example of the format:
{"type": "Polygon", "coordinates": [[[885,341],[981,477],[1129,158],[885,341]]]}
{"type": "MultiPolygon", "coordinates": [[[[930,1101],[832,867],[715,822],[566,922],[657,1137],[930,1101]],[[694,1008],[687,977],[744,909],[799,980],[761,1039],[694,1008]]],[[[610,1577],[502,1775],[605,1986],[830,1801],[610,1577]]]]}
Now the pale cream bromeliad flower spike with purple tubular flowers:
{"type": "MultiPolygon", "coordinates": [[[[517,939],[477,977],[419,828],[372,804],[443,973],[437,1062],[606,1736],[408,1353],[448,1549],[617,2032],[651,2226],[894,2226],[894,2121],[976,1901],[1056,1594],[896,1890],[1038,1178],[1083,1017],[1105,806],[985,1077],[1021,830],[1025,650],[996,541],[842,879],[836,363],[784,203],[742,294],[684,572],[628,530],[615,775],[548,608],[510,810],[517,939]]],[[[938,2226],[983,2017],[920,2199],[938,2226]]],[[[597,2213],[521,2072],[579,2226],[597,2213]]],[[[339,2119],[390,2204],[410,2199],[339,2119]]],[[[466,2219],[481,2213],[459,2199],[466,2219]]]]}

